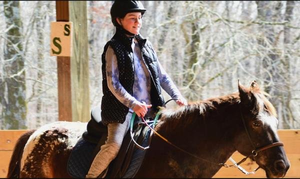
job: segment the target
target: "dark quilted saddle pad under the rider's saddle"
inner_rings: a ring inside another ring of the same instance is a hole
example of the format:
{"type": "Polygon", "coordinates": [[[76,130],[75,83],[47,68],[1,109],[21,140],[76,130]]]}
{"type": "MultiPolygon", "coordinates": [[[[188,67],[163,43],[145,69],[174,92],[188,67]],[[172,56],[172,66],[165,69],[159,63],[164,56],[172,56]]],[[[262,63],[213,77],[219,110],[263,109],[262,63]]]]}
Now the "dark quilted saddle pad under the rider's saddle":
{"type": "MultiPolygon", "coordinates": [[[[150,130],[148,129],[146,131],[144,139],[141,142],[141,146],[148,145],[149,136],[150,130]]],[[[82,137],[78,140],[78,142],[73,147],[67,162],[67,172],[70,176],[75,178],[85,178],[85,175],[87,174],[93,159],[92,154],[95,147],[96,144],[88,142],[82,137]]],[[[134,148],[128,168],[125,168],[126,172],[122,177],[133,177],[135,175],[135,173],[140,167],[145,152],[145,150],[141,150],[136,147],[134,148]]],[[[108,173],[110,172],[108,171],[108,173]]],[[[109,174],[105,176],[105,178],[107,177],[109,177],[109,174]]]]}

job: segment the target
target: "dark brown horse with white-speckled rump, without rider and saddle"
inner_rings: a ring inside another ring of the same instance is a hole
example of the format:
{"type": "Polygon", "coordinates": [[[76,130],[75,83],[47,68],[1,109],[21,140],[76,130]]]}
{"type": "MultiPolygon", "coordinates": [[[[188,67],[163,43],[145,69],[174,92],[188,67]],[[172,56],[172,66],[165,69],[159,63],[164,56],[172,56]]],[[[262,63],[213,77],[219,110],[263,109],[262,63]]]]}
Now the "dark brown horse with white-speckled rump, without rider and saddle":
{"type": "MultiPolygon", "coordinates": [[[[134,177],[212,177],[235,151],[254,160],[266,177],[284,177],[289,161],[268,94],[256,81],[245,87],[238,80],[237,86],[238,91],[228,95],[176,109],[161,107],[150,147],[134,177]]],[[[23,137],[26,143],[17,142],[7,177],[70,177],[67,158],[86,123],[64,123],[55,131],[49,130],[52,123],[46,124],[29,131],[23,137]]]]}

